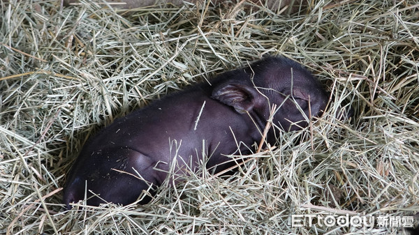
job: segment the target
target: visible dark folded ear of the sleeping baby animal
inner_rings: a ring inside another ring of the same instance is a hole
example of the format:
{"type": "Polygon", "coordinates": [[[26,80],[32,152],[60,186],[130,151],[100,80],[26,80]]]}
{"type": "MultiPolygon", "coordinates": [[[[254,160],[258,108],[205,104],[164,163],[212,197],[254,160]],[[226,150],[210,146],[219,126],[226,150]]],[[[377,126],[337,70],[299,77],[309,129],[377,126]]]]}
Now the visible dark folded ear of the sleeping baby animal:
{"type": "Polygon", "coordinates": [[[258,91],[245,84],[220,84],[212,91],[212,98],[225,105],[234,107],[240,114],[251,111],[255,105],[255,96],[258,91]]]}

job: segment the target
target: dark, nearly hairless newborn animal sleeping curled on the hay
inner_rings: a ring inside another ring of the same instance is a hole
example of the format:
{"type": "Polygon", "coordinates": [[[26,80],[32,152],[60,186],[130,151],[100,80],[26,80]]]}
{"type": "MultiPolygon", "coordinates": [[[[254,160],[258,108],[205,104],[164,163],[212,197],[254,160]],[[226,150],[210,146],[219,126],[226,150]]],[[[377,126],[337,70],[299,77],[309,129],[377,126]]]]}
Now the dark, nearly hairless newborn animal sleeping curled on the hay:
{"type": "MultiPolygon", "coordinates": [[[[156,100],[91,138],[68,174],[67,208],[84,199],[86,184],[87,204],[126,205],[150,185],[154,193],[168,172],[182,176],[205,162],[212,173],[221,172],[234,164],[226,155],[249,154],[251,145],[260,142],[273,104],[279,107],[273,125],[289,131],[307,126],[308,117],[320,115],[328,101],[309,71],[282,57],[222,73],[210,83],[156,100]]],[[[267,143],[273,145],[275,137],[271,128],[267,143]]]]}

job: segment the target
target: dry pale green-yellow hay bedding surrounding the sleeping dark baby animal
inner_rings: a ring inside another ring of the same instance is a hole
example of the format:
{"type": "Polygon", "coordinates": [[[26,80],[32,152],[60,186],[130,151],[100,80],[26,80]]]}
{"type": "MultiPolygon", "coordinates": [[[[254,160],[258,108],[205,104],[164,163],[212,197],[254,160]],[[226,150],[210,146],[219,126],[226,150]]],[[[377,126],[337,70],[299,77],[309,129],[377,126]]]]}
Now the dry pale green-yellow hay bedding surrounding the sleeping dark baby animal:
{"type": "Polygon", "coordinates": [[[310,1],[277,15],[98,3],[1,2],[0,234],[396,234],[291,227],[293,214],[419,211],[418,1],[310,1]],[[305,65],[334,94],[230,179],[190,176],[152,204],[64,211],[72,160],[101,126],[265,54],[305,65]],[[333,118],[355,108],[351,123],[333,118]]]}

